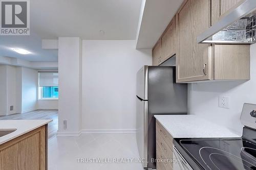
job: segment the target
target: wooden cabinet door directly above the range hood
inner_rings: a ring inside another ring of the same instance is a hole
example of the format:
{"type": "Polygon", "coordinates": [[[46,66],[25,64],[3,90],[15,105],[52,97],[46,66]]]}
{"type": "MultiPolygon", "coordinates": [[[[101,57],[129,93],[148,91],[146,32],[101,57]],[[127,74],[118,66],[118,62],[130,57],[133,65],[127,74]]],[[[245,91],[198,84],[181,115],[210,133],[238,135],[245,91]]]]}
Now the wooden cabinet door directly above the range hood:
{"type": "Polygon", "coordinates": [[[211,1],[211,24],[213,25],[222,16],[229,13],[229,10],[236,8],[245,0],[213,0],[211,1]]]}

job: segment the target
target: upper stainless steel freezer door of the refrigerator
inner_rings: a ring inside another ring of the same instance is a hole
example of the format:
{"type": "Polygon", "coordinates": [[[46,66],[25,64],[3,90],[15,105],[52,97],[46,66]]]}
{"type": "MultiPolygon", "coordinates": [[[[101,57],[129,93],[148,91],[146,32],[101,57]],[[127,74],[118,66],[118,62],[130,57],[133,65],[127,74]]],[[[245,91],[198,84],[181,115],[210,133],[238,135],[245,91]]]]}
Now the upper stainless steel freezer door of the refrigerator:
{"type": "Polygon", "coordinates": [[[147,100],[147,68],[148,66],[145,65],[137,72],[136,95],[142,100],[147,100]]]}

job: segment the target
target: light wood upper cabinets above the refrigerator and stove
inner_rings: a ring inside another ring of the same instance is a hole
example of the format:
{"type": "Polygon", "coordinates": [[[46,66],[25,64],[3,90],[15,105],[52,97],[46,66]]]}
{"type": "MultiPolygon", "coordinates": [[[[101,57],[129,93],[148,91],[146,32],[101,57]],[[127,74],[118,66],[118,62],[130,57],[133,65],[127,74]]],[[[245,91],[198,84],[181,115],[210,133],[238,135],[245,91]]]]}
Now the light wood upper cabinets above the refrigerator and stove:
{"type": "Polygon", "coordinates": [[[197,43],[199,34],[244,1],[185,0],[153,48],[153,65],[176,54],[177,83],[249,80],[250,45],[197,43]]]}

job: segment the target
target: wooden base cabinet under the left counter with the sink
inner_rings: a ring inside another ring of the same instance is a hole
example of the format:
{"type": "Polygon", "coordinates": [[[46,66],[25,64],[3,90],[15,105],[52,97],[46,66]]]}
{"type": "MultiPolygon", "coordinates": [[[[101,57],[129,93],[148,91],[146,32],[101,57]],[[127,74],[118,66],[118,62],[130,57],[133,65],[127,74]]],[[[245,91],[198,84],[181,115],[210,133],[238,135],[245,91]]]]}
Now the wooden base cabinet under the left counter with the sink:
{"type": "Polygon", "coordinates": [[[47,125],[0,145],[0,170],[47,169],[47,125]]]}

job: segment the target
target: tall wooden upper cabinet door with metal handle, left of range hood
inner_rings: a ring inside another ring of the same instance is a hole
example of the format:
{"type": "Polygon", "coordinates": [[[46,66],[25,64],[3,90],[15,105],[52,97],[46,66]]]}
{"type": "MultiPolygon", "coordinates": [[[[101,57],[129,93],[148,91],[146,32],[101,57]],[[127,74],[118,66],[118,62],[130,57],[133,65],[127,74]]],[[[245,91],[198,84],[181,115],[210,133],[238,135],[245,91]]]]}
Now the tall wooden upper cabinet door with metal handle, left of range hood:
{"type": "Polygon", "coordinates": [[[208,0],[187,0],[176,15],[177,82],[211,79],[211,47],[197,43],[197,35],[209,28],[209,6],[208,0]]]}

